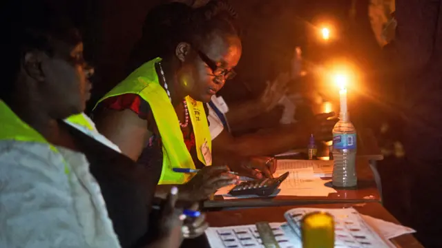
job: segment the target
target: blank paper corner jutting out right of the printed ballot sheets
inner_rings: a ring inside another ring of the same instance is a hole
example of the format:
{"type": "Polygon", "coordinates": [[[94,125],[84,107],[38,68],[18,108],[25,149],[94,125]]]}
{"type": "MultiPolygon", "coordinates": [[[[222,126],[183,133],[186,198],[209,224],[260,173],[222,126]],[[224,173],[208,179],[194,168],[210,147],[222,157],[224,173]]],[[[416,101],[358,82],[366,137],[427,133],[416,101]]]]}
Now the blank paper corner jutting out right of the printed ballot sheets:
{"type": "Polygon", "coordinates": [[[378,234],[381,234],[387,239],[396,238],[404,234],[414,234],[416,231],[410,227],[404,227],[403,225],[397,225],[385,220],[373,218],[372,216],[366,216],[361,214],[365,222],[373,227],[378,234]]]}

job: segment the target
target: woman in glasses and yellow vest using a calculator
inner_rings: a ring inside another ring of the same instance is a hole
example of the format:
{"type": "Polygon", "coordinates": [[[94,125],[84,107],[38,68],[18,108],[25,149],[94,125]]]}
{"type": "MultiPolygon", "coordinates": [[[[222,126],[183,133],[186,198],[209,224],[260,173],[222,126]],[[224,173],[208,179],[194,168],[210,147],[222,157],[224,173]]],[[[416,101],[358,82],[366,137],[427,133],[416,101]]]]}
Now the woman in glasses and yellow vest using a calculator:
{"type": "Polygon", "coordinates": [[[156,196],[178,185],[180,198],[202,200],[238,177],[212,165],[205,104],[231,79],[242,48],[224,1],[201,8],[157,6],[133,50],[131,74],[97,103],[99,132],[158,178],[156,196]],[[174,168],[201,169],[189,174],[174,168]]]}

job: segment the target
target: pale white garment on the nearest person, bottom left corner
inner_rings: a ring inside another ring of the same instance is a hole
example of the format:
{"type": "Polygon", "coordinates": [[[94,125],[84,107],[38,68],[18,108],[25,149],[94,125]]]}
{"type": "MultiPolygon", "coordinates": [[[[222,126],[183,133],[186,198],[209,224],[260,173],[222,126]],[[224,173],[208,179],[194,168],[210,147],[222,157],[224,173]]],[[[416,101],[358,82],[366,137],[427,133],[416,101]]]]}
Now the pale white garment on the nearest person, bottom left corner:
{"type": "Polygon", "coordinates": [[[0,247],[120,247],[86,156],[57,149],[0,141],[0,247]]]}

